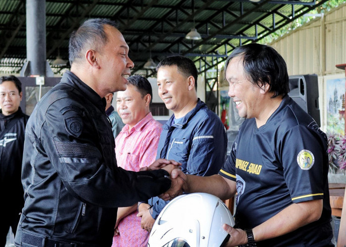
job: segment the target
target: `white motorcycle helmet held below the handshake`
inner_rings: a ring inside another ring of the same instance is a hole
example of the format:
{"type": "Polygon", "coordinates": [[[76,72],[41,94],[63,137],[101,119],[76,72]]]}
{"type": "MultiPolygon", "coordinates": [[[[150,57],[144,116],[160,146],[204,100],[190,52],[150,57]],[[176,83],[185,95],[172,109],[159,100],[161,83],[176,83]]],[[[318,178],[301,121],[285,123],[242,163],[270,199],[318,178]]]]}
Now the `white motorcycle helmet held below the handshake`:
{"type": "Polygon", "coordinates": [[[192,193],[173,199],[157,217],[148,247],[220,247],[234,226],[227,206],[216,196],[192,193]]]}

